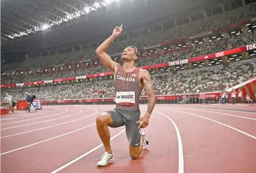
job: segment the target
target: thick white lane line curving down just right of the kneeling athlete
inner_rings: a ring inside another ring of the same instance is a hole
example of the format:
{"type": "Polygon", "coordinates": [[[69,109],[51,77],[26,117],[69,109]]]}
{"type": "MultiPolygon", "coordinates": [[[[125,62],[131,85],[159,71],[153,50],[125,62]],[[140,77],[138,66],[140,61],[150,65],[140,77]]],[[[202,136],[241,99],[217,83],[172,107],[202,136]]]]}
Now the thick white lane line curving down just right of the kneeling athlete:
{"type": "MultiPolygon", "coordinates": [[[[147,109],[145,109],[147,110],[147,109]]],[[[154,112],[157,112],[156,110],[154,110],[154,112]]],[[[175,122],[173,120],[171,120],[170,117],[168,117],[165,114],[162,114],[161,112],[157,112],[158,114],[164,115],[164,117],[168,118],[168,120],[171,121],[171,123],[173,123],[173,126],[175,127],[175,131],[178,137],[178,147],[179,147],[179,169],[178,169],[178,173],[184,173],[184,159],[183,159],[183,148],[182,148],[182,141],[181,141],[181,134],[179,133],[179,129],[176,126],[175,122]]]]}

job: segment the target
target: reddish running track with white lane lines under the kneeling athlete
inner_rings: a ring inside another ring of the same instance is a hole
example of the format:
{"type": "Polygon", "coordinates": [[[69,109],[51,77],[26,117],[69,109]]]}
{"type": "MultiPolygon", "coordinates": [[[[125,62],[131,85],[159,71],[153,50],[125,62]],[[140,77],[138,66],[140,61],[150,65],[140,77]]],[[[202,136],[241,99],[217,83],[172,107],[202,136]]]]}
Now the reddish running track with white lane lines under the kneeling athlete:
{"type": "MultiPolygon", "coordinates": [[[[115,158],[99,168],[104,149],[95,118],[113,107],[44,106],[13,116],[23,118],[5,117],[1,172],[256,172],[256,114],[246,112],[252,106],[238,112],[215,109],[238,109],[232,106],[157,104],[144,129],[150,145],[140,158],[131,160],[124,128],[110,128],[115,158]]],[[[147,105],[140,109],[145,114],[147,105]]]]}

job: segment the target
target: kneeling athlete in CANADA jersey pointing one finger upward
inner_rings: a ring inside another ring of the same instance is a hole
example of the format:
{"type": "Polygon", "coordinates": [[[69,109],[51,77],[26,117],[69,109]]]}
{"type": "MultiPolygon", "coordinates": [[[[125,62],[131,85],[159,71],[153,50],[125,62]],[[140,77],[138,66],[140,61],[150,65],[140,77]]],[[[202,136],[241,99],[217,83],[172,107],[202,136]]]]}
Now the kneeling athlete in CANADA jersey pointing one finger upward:
{"type": "Polygon", "coordinates": [[[130,157],[137,159],[143,149],[147,148],[148,140],[145,132],[140,128],[148,126],[151,113],[156,103],[151,76],[147,70],[140,70],[135,67],[139,58],[136,47],[126,47],[122,53],[123,67],[112,61],[106,54],[111,42],[122,33],[122,25],[116,27],[111,36],[106,39],[95,51],[103,65],[113,72],[114,87],[116,92],[116,107],[104,112],[96,119],[97,131],[105,147],[105,154],[102,155],[98,166],[106,166],[108,161],[114,158],[110,146],[109,127],[125,126],[126,137],[130,143],[130,157]],[[142,89],[145,87],[148,95],[147,113],[140,118],[139,98],[142,89]]]}

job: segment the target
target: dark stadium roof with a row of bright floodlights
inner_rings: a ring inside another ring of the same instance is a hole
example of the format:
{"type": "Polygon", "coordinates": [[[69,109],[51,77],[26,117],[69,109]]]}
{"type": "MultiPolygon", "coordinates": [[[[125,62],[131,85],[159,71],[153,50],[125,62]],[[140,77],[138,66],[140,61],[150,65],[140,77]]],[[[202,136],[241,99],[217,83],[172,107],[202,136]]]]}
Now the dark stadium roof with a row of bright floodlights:
{"type": "Polygon", "coordinates": [[[116,25],[123,24],[128,33],[156,18],[170,20],[198,10],[198,5],[204,8],[220,2],[223,1],[2,0],[1,52],[40,51],[100,41],[116,25]]]}

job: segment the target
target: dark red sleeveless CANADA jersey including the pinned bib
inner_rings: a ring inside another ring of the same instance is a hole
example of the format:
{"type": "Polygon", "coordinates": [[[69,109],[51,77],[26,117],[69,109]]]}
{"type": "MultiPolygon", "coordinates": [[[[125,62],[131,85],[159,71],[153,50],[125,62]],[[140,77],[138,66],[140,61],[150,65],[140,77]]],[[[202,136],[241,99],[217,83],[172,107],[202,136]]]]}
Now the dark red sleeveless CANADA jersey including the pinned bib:
{"type": "Polygon", "coordinates": [[[126,73],[122,67],[117,69],[114,81],[116,107],[125,110],[139,110],[139,99],[142,92],[139,81],[140,69],[126,73]]]}

